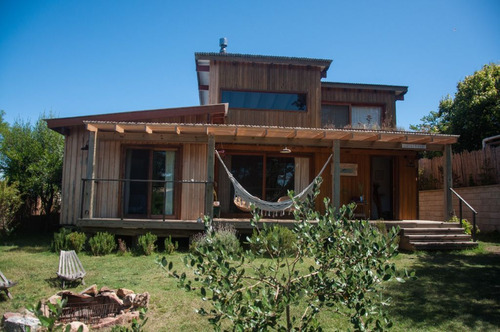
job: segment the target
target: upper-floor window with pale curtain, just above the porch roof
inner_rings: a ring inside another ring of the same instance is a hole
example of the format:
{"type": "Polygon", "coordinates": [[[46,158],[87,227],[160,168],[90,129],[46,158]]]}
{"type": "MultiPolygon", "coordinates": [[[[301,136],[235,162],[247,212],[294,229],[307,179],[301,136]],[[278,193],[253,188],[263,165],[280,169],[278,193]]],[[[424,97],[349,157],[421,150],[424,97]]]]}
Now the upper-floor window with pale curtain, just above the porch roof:
{"type": "Polygon", "coordinates": [[[332,128],[380,129],[382,107],[322,105],[321,126],[332,128]]]}

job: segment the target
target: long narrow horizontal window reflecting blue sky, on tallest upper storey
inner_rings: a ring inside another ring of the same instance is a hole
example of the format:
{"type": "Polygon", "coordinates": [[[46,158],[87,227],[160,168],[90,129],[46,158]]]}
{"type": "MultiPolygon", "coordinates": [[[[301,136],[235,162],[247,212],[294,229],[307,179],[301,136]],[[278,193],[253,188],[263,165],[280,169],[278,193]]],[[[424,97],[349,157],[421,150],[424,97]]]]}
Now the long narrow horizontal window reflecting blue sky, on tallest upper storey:
{"type": "Polygon", "coordinates": [[[305,93],[222,90],[222,102],[231,108],[277,111],[306,111],[305,93]]]}

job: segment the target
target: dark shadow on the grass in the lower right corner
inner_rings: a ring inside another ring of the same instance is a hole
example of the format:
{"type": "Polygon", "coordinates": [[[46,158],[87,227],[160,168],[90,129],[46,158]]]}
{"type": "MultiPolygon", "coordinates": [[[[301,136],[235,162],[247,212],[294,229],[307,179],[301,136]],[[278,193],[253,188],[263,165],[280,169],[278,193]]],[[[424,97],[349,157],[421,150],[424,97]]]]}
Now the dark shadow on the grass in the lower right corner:
{"type": "Polygon", "coordinates": [[[392,284],[395,321],[419,326],[500,326],[500,255],[434,252],[415,255],[417,280],[392,284]]]}

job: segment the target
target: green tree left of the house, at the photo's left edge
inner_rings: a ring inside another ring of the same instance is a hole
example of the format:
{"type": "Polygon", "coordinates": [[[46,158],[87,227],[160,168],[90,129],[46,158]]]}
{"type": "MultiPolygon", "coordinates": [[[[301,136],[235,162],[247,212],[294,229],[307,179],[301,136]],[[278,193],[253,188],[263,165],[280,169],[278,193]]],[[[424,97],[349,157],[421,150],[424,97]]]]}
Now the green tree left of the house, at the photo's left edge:
{"type": "Polygon", "coordinates": [[[35,126],[17,120],[0,142],[0,170],[9,183],[18,184],[25,215],[38,200],[42,212],[51,213],[61,188],[64,138],[50,130],[43,117],[35,126]]]}

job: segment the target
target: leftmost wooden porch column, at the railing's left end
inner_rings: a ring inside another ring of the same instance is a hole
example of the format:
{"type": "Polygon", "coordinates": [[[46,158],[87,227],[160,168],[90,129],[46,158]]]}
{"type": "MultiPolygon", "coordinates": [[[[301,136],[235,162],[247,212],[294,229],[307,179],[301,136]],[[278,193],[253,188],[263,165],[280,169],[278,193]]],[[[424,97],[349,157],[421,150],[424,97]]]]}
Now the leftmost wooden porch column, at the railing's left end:
{"type": "Polygon", "coordinates": [[[95,157],[96,157],[96,141],[97,141],[97,128],[90,125],[87,126],[89,131],[89,149],[87,154],[87,173],[85,178],[85,188],[83,196],[83,218],[92,218],[94,215],[94,192],[95,183],[89,179],[95,178],[95,157]]]}

